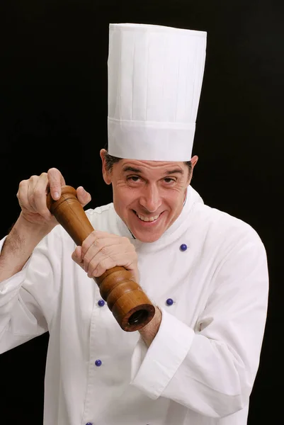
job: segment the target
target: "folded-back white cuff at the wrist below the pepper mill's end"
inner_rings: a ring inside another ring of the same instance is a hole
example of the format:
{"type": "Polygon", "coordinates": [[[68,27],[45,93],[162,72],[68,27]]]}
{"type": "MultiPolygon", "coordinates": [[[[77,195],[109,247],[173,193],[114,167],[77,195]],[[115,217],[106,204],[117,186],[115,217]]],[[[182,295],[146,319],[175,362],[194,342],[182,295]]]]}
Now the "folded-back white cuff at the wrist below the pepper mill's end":
{"type": "Polygon", "coordinates": [[[131,385],[157,399],[173,378],[191,348],[194,331],[161,310],[159,331],[147,348],[142,338],[132,354],[131,385]]]}

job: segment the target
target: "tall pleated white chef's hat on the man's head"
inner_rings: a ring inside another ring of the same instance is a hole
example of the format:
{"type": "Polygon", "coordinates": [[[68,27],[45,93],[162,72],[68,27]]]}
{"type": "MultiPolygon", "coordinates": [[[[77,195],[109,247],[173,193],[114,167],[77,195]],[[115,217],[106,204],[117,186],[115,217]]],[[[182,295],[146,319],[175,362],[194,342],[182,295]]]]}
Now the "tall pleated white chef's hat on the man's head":
{"type": "Polygon", "coordinates": [[[111,23],[108,153],[189,161],[203,81],[204,31],[111,23]]]}

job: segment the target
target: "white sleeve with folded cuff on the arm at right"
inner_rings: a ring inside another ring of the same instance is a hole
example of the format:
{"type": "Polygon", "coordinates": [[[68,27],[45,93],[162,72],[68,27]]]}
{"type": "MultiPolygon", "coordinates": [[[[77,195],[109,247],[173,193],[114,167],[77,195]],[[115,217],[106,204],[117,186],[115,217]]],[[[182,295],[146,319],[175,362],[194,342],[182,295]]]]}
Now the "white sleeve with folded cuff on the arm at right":
{"type": "Polygon", "coordinates": [[[211,417],[249,403],[266,324],[268,266],[259,237],[239,241],[220,264],[194,332],[162,310],[147,349],[132,356],[132,385],[152,399],[167,397],[211,417]]]}

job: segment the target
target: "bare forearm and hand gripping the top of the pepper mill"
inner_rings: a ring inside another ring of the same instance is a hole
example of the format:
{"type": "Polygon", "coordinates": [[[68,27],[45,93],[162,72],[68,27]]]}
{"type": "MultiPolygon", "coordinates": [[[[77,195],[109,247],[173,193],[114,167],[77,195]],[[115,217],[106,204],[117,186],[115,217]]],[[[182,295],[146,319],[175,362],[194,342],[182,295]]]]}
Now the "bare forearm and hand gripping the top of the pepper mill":
{"type": "MultiPolygon", "coordinates": [[[[58,224],[47,208],[47,193],[50,191],[54,200],[59,199],[64,184],[62,174],[55,168],[19,184],[17,197],[21,214],[1,249],[0,283],[21,271],[35,246],[58,224]]],[[[82,186],[77,188],[76,195],[83,207],[91,200],[82,186]]]]}

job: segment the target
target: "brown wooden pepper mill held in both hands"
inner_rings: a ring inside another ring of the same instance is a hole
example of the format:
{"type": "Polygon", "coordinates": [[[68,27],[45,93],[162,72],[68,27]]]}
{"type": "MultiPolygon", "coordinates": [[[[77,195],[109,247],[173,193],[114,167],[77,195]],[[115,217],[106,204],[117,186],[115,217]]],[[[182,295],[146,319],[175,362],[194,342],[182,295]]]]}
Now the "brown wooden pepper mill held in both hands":
{"type": "MultiPolygon", "coordinates": [[[[81,246],[94,230],[72,186],[62,186],[59,200],[53,200],[48,193],[47,208],[76,245],[81,246]]],[[[137,331],[154,317],[154,305],[124,267],[110,268],[99,278],[93,279],[98,284],[101,297],[124,331],[137,331]]]]}

